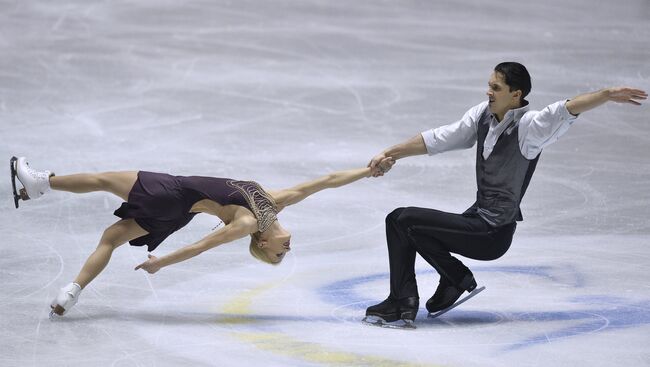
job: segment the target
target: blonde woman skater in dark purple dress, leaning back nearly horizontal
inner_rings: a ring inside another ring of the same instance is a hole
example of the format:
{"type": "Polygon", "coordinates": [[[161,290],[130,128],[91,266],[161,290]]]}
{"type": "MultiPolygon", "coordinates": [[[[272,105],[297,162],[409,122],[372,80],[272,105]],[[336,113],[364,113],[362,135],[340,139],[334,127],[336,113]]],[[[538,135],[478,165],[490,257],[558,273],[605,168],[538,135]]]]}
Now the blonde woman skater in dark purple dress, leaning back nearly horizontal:
{"type": "MultiPolygon", "coordinates": [[[[388,170],[394,161],[386,158],[380,170],[388,170]]],[[[161,268],[192,258],[213,247],[250,235],[249,250],[255,258],[279,264],[290,250],[291,234],[277,220],[277,213],[318,191],[347,185],[370,177],[370,168],[334,172],[289,189],[265,191],[253,181],[228,178],[171,176],[145,171],[82,173],[55,176],[36,171],[25,157],[10,161],[14,200],[36,199],[53,190],[74,193],[107,191],[122,203],[115,215],[121,220],[109,226],[99,245],[88,257],[79,275],[61,288],[51,303],[54,314],[66,314],[84,289],[106,267],[113,251],[129,241],[133,246],[147,245],[153,251],[170,234],[181,229],[198,213],[212,214],[225,226],[199,241],[161,257],[149,259],[135,270],[151,274],[161,268]],[[15,179],[23,188],[16,192],[15,179]]]]}

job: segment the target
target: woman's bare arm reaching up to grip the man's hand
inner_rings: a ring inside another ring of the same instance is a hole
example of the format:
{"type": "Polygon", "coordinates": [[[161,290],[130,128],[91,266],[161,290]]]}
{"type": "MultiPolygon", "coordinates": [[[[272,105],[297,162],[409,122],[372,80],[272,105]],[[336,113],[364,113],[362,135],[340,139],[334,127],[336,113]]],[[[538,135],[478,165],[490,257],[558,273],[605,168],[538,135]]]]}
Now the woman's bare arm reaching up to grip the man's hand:
{"type": "MultiPolygon", "coordinates": [[[[382,164],[388,167],[392,165],[390,162],[394,163],[391,159],[386,159],[382,164]]],[[[347,185],[371,175],[372,169],[370,167],[338,171],[271,194],[278,206],[285,207],[300,202],[309,195],[321,190],[347,185]]]]}

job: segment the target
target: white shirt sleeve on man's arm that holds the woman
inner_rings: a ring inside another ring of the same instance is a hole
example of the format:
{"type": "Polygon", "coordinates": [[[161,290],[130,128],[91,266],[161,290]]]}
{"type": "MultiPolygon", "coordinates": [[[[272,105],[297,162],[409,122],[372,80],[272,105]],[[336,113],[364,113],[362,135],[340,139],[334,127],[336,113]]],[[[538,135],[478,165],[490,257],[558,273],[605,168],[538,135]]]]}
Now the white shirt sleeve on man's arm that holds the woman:
{"type": "Polygon", "coordinates": [[[476,144],[477,121],[487,102],[470,108],[463,117],[449,125],[423,131],[422,139],[429,155],[450,150],[468,149],[476,144]]]}

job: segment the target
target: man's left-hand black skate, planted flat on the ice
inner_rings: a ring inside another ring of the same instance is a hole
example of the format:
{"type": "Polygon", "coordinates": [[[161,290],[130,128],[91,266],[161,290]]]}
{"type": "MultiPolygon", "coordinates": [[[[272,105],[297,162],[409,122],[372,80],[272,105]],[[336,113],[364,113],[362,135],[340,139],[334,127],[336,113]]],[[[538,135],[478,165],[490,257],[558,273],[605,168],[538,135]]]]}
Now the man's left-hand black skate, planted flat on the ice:
{"type": "Polygon", "coordinates": [[[418,313],[418,297],[397,300],[388,296],[383,302],[366,309],[363,322],[370,325],[395,329],[415,329],[413,321],[418,313]]]}

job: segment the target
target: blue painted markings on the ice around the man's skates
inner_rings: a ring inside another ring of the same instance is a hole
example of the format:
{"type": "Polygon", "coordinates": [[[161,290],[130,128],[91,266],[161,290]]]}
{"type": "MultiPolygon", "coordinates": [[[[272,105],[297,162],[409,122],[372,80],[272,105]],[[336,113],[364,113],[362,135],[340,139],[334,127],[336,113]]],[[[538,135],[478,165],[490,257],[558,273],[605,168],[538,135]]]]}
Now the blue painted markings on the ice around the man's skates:
{"type": "MultiPolygon", "coordinates": [[[[521,274],[529,277],[538,277],[547,279],[551,283],[567,285],[575,289],[586,287],[584,276],[571,265],[561,266],[491,266],[477,267],[479,272],[498,272],[509,274],[521,274]],[[558,270],[561,268],[562,270],[558,270]]],[[[418,272],[417,274],[427,274],[432,270],[418,272]]],[[[368,304],[372,303],[359,293],[362,285],[377,281],[379,279],[388,280],[388,273],[375,273],[362,275],[348,279],[331,282],[318,289],[321,299],[330,304],[338,305],[333,312],[340,309],[351,308],[353,310],[363,310],[368,304]]],[[[452,324],[455,320],[474,318],[479,322],[473,325],[494,325],[496,323],[508,320],[510,322],[542,322],[569,321],[575,324],[564,326],[557,330],[542,330],[538,334],[530,337],[504,341],[503,343],[492,343],[501,345],[502,351],[510,352],[522,348],[533,347],[540,344],[550,344],[567,338],[580,337],[588,334],[595,334],[607,330],[616,330],[621,328],[639,327],[650,324],[650,301],[648,300],[629,300],[612,296],[585,295],[574,297],[567,300],[571,304],[578,304],[583,309],[567,310],[547,310],[547,311],[507,311],[499,312],[498,318],[491,319],[491,313],[485,311],[467,311],[457,310],[453,315],[445,316],[443,319],[422,320],[424,325],[439,325],[440,323],[452,324]],[[487,317],[486,317],[487,316],[487,317]]],[[[335,316],[336,317],[336,316],[335,316]]],[[[344,320],[344,318],[337,317],[344,320]]],[[[552,328],[553,326],[549,326],[552,328]]]]}

